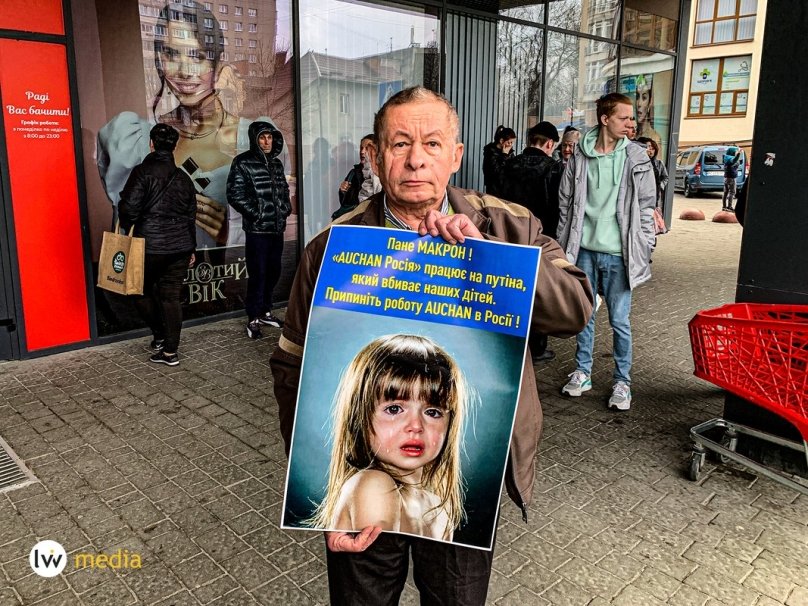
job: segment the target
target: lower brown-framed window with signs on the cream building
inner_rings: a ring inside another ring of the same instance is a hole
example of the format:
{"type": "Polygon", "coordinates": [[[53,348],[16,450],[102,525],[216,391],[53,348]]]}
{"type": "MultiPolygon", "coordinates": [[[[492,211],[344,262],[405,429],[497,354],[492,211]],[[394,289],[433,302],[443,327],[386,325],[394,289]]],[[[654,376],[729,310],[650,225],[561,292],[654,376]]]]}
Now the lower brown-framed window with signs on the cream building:
{"type": "Polygon", "coordinates": [[[752,55],[693,61],[688,118],[744,116],[752,55]]]}

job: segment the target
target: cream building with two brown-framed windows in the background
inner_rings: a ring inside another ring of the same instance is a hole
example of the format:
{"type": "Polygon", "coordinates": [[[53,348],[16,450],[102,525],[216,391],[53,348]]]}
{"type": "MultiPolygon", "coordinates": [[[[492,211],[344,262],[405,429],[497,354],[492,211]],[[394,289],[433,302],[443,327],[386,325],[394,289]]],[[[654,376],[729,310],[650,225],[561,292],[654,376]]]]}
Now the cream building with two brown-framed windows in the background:
{"type": "Polygon", "coordinates": [[[693,0],[679,148],[735,143],[751,151],[766,0],[693,0]]]}

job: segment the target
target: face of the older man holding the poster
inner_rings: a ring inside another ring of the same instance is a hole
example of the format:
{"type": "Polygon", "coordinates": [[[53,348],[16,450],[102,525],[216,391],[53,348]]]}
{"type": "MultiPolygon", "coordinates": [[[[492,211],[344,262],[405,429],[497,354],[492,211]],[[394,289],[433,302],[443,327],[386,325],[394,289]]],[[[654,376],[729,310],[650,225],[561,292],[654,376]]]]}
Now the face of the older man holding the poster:
{"type": "Polygon", "coordinates": [[[463,144],[455,142],[449,110],[440,101],[391,107],[379,149],[371,148],[379,180],[393,204],[439,205],[449,177],[460,168],[463,144]]]}

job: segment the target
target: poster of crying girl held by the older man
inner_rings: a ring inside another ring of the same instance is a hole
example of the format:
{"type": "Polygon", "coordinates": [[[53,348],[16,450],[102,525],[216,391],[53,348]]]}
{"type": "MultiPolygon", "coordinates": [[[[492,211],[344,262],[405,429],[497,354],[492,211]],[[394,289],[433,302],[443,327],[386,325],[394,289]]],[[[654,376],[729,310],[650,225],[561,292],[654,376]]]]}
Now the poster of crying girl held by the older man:
{"type": "Polygon", "coordinates": [[[491,549],[540,249],[333,226],[281,527],[491,549]]]}

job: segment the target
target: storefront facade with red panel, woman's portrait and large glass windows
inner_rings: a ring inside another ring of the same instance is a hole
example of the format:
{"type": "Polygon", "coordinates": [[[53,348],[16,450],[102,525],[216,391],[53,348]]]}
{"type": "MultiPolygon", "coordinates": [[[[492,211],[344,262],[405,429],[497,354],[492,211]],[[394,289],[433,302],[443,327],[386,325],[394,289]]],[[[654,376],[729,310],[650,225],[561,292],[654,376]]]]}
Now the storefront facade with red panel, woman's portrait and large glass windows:
{"type": "Polygon", "coordinates": [[[143,334],[131,301],[95,282],[155,123],[179,130],[175,158],[197,187],[183,303],[186,319],[206,321],[243,309],[244,238],[225,183],[251,121],[285,140],[282,301],[375,112],[408,86],[458,108],[463,187],[482,188],[497,125],[518,149],[540,120],[587,130],[611,91],[636,100],[640,134],[670,158],[689,13],[689,0],[4,0],[0,359],[143,334]]]}

